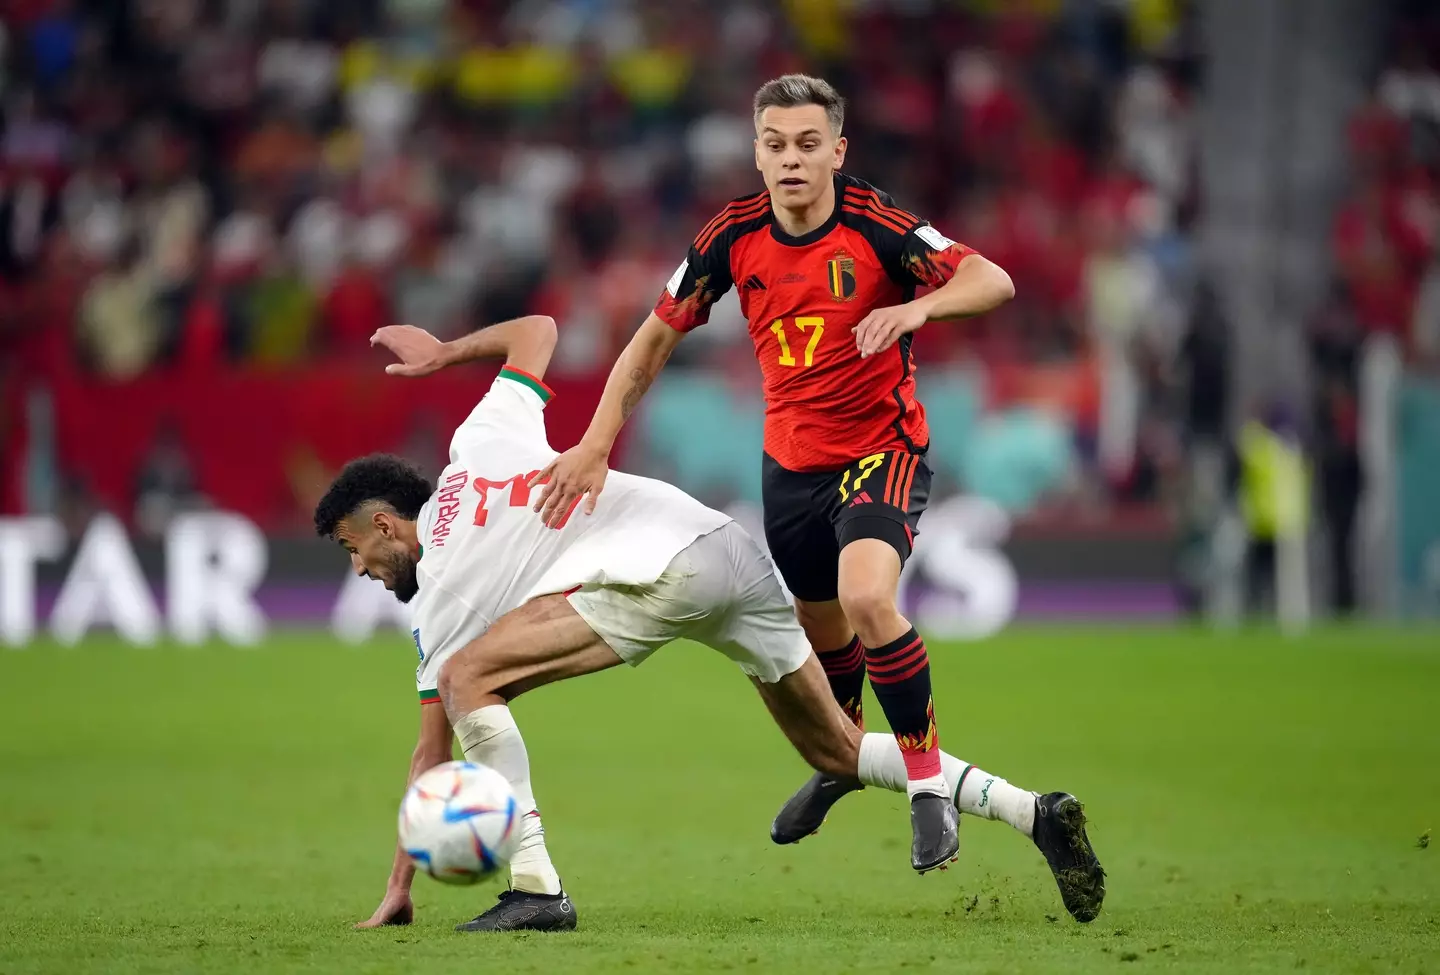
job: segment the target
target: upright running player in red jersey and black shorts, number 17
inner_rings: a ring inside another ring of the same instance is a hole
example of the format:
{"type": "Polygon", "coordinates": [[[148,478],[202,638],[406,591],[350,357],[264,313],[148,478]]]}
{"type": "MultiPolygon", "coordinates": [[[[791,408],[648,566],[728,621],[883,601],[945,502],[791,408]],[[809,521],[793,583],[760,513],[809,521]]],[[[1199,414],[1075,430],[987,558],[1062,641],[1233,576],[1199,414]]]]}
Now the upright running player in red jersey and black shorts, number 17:
{"type": "MultiPolygon", "coordinates": [[[[550,484],[537,507],[556,521],[582,497],[593,508],[611,445],[651,380],[714,301],[739,288],[765,383],[770,554],[855,724],[868,671],[906,759],[912,866],[923,873],[955,857],[958,818],[940,770],[924,641],[896,605],[930,487],[910,341],[927,321],[995,308],[1014,287],[979,253],[840,171],[844,102],[827,82],[786,75],[766,84],[755,122],[765,192],[734,200],[696,238],[621,354],[585,438],[543,472],[550,484]],[[916,298],[922,285],[933,291],[916,298]]],[[[780,811],[772,837],[808,835],[855,788],[816,775],[780,811]]],[[[1051,796],[1079,815],[1073,796],[1051,796]]],[[[1086,854],[1093,858],[1087,843],[1086,854]]]]}

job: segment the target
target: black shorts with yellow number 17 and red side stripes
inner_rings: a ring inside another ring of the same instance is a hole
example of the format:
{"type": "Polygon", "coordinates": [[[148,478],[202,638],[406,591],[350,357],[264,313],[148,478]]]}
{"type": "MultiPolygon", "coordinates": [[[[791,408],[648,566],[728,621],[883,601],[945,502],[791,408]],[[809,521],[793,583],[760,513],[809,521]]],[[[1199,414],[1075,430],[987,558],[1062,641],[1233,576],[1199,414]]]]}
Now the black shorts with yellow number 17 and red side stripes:
{"type": "Polygon", "coordinates": [[[840,550],[880,539],[910,557],[920,514],[930,500],[923,454],[871,454],[840,471],[788,471],[765,455],[765,540],[796,599],[834,599],[840,550]]]}

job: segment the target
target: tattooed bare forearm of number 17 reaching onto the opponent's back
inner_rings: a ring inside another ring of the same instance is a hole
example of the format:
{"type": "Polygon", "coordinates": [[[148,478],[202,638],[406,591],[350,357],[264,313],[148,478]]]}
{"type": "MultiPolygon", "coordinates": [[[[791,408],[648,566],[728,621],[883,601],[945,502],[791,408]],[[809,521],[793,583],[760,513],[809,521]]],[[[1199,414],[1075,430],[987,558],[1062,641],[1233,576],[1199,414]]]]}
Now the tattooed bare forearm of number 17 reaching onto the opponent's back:
{"type": "Polygon", "coordinates": [[[605,488],[615,438],[683,337],[683,331],[651,313],[615,360],[585,436],[531,478],[531,485],[546,481],[536,511],[552,529],[560,527],[577,498],[585,498],[586,514],[595,511],[595,501],[605,488]]]}

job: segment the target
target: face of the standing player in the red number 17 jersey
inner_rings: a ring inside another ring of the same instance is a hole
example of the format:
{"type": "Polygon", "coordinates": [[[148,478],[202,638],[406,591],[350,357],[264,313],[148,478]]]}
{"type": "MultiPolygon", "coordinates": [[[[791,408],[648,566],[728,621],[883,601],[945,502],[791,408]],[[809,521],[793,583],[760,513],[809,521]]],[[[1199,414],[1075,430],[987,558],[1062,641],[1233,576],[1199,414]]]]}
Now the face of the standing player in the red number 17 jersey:
{"type": "Polygon", "coordinates": [[[766,108],[760,115],[755,166],[779,206],[802,210],[815,203],[844,161],[845,140],[819,105],[766,108]]]}

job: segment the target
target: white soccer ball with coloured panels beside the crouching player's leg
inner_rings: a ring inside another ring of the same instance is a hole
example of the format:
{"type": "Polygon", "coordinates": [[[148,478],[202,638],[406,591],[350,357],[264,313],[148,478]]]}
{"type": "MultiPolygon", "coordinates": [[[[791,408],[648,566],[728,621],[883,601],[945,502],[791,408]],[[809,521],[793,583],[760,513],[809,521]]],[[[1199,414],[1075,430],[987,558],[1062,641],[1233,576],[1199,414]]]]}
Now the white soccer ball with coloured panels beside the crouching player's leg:
{"type": "Polygon", "coordinates": [[[474,762],[446,762],[415,779],[400,801],[400,845],[418,870],[472,884],[510,863],[520,819],[505,776],[474,762]]]}

